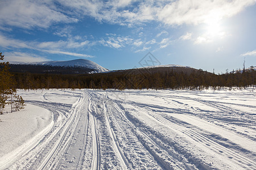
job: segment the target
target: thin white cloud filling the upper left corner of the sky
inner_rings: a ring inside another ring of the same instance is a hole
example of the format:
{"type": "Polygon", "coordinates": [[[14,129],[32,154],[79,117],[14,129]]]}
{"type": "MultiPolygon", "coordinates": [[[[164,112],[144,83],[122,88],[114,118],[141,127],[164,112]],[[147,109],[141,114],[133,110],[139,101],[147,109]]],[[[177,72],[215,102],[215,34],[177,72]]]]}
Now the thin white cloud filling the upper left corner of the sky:
{"type": "Polygon", "coordinates": [[[9,0],[1,1],[0,25],[31,29],[48,28],[53,23],[77,22],[57,9],[50,1],[9,0]]]}

